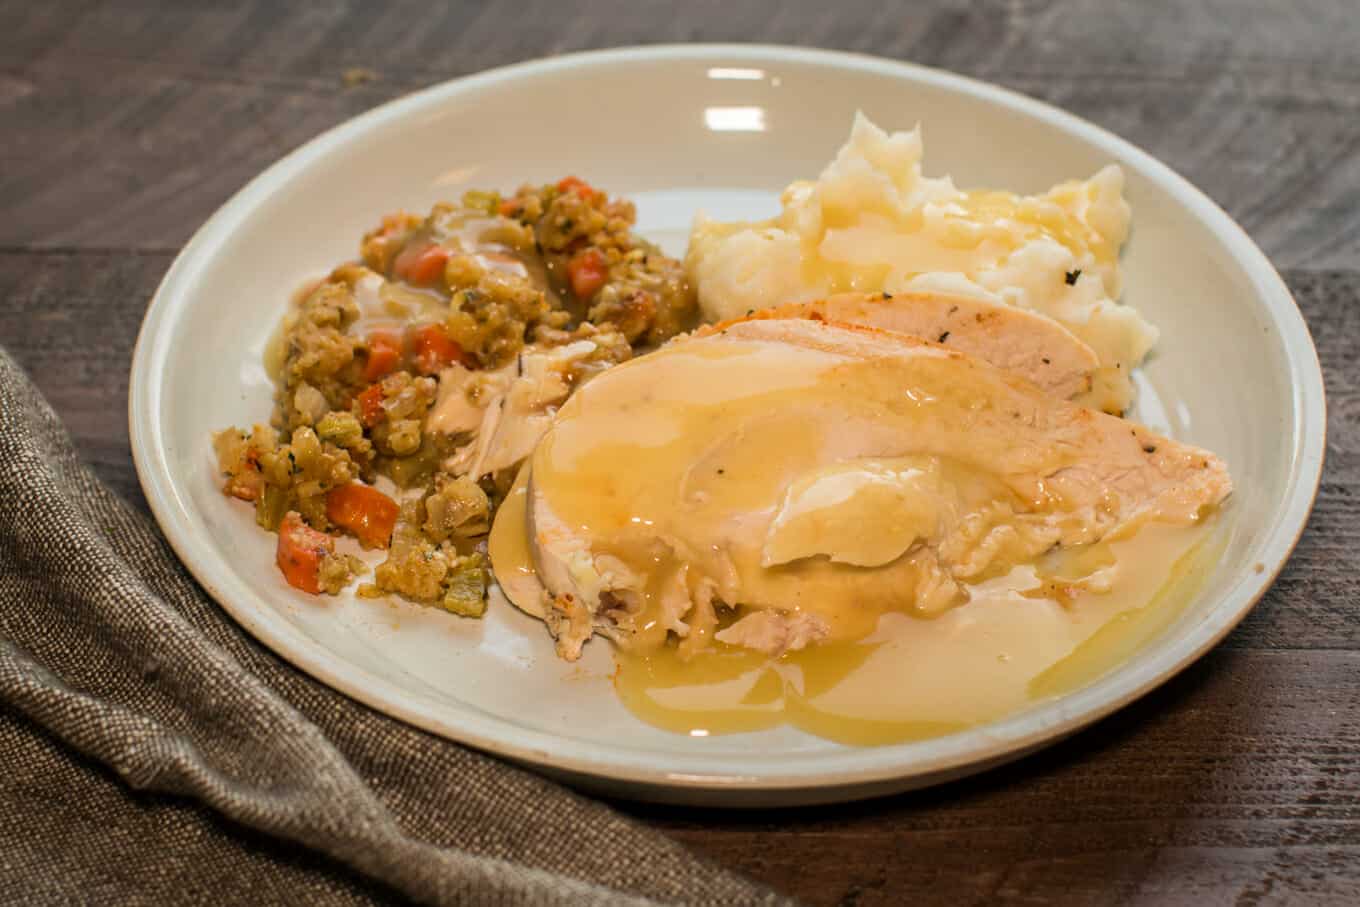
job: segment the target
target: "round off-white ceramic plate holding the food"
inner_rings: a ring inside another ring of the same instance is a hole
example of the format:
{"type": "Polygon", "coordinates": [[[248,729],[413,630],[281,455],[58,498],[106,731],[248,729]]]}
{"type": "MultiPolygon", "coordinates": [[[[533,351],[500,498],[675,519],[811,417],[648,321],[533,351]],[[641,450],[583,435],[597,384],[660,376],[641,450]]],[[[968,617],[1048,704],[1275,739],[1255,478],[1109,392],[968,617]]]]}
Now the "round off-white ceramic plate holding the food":
{"type": "Polygon", "coordinates": [[[1284,564],[1322,465],[1316,355],[1270,264],[1212,201],[1146,154],[1001,88],[860,56],[755,46],[611,50],[437,86],[352,120],[242,189],[175,260],[132,366],[137,472],[160,526],[204,587],[284,658],[434,733],[642,798],[770,805],[865,797],[1013,759],[1123,706],[1223,638],[1284,564]],[[960,185],[1042,190],[1114,160],[1134,234],[1125,301],[1161,328],[1136,416],[1206,446],[1238,491],[1227,549],[1197,601],[1091,685],[948,737],[850,748],[793,729],[691,738],[617,702],[607,643],[578,665],[507,605],[481,621],[313,598],[273,568],[273,537],[224,498],[209,434],[264,420],[265,339],[288,294],[356,254],[377,218],[465,186],[581,175],[638,203],[672,253],[696,208],[764,216],[811,177],[855,109],[925,125],[926,169],[960,185]]]}

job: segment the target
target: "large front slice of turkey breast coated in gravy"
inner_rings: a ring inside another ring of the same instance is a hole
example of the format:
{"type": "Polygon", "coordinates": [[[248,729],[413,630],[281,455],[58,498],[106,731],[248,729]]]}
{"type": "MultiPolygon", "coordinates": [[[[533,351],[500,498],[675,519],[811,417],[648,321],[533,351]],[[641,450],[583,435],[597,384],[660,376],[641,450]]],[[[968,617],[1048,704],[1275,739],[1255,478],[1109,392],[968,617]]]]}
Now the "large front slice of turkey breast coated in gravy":
{"type": "Polygon", "coordinates": [[[858,639],[1055,547],[1194,522],[1232,487],[1213,454],[975,356],[809,318],[607,371],[528,469],[492,566],[510,570],[498,536],[526,536],[517,570],[537,586],[517,578],[515,601],[564,658],[596,631],[638,650],[858,639]]]}

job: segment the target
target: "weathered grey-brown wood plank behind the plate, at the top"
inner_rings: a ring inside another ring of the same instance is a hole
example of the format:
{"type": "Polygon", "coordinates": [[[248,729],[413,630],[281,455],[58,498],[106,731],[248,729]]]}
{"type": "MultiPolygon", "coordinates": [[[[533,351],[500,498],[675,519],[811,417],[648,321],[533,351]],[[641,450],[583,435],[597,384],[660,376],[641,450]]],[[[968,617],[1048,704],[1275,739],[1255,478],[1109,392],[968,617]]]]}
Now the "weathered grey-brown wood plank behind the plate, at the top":
{"type": "Polygon", "coordinates": [[[268,163],[412,88],[589,46],[753,37],[942,65],[1053,101],[1185,173],[1281,267],[1360,256],[1360,69],[1342,3],[1176,3],[1152,19],[1081,0],[722,16],[717,4],[657,15],[622,1],[589,16],[551,3],[437,15],[413,1],[122,3],[78,7],[63,30],[54,8],[0,14],[0,33],[20,35],[0,44],[0,205],[12,213],[0,246],[177,247],[268,163]],[[1250,23],[1232,41],[1229,16],[1250,23]],[[1130,42],[1136,29],[1152,34],[1130,42]],[[345,88],[355,65],[379,79],[345,88]]]}

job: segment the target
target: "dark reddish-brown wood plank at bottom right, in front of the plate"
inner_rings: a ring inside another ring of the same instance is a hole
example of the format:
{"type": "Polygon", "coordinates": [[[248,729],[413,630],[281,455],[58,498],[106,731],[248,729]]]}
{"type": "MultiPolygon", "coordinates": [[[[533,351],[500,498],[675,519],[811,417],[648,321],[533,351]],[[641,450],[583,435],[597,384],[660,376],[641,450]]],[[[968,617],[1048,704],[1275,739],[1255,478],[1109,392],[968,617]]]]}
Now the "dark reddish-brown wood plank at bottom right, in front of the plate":
{"type": "Polygon", "coordinates": [[[1360,897],[1360,654],[1219,649],[1057,747],[834,809],[624,810],[812,903],[1360,897]]]}

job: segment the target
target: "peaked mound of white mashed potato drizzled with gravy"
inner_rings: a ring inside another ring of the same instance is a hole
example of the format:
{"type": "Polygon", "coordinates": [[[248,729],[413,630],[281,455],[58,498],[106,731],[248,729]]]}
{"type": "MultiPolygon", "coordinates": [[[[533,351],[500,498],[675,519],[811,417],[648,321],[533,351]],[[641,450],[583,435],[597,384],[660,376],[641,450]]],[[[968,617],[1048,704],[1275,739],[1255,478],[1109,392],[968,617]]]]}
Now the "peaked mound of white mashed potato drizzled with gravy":
{"type": "Polygon", "coordinates": [[[1129,373],[1157,332],[1115,302],[1130,218],[1119,167],[1017,196],[925,177],[922,152],[919,128],[889,135],[857,114],[817,181],[783,190],[778,216],[699,215],[685,264],[704,317],[849,291],[986,298],[1047,315],[1085,341],[1100,369],[1083,403],[1123,412],[1129,373]]]}

